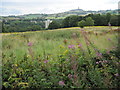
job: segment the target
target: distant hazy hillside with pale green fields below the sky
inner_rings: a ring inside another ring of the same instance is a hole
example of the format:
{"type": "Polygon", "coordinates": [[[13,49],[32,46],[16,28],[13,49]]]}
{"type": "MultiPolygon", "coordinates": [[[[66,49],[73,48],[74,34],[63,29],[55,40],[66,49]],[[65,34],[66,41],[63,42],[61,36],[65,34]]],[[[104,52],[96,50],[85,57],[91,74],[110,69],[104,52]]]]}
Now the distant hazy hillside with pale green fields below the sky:
{"type": "Polygon", "coordinates": [[[25,14],[25,15],[19,15],[19,16],[3,16],[3,18],[9,18],[9,19],[33,19],[33,18],[44,18],[44,19],[64,19],[65,17],[69,15],[81,15],[85,16],[88,14],[106,14],[106,13],[111,13],[111,14],[118,14],[118,9],[115,10],[99,10],[99,11],[85,11],[82,9],[73,9],[61,13],[54,13],[54,14],[25,14]]]}

